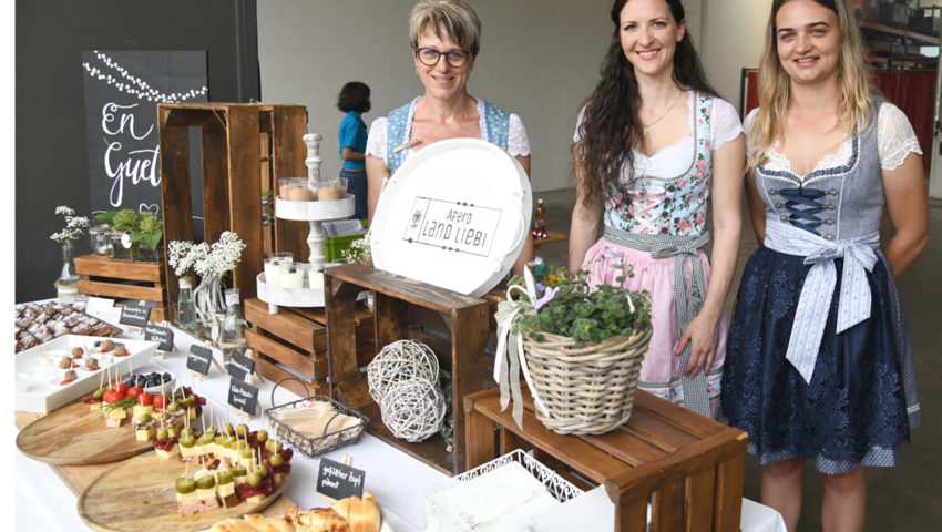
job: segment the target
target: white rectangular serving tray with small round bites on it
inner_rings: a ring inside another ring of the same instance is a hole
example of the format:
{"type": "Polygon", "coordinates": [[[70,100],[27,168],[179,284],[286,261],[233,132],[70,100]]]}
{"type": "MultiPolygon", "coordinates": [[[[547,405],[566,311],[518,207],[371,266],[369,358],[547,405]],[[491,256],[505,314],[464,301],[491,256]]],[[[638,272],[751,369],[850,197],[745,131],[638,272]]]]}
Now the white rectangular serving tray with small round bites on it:
{"type": "MultiPolygon", "coordinates": [[[[131,369],[143,366],[156,352],[158,345],[156,341],[111,338],[115,344],[124,344],[129,352],[126,357],[96,357],[100,358],[101,369],[88,371],[75,368],[79,378],[68,385],[60,385],[63,372],[57,364],[60,358],[71,356],[75,347],[85,348],[86,352],[93,351],[96,341],[107,339],[99,336],[65,335],[18,352],[14,385],[17,411],[49,413],[96,390],[103,371],[111,369],[114,379],[119,374],[127,375],[131,369]]],[[[104,379],[107,381],[107,374],[104,379]]]]}

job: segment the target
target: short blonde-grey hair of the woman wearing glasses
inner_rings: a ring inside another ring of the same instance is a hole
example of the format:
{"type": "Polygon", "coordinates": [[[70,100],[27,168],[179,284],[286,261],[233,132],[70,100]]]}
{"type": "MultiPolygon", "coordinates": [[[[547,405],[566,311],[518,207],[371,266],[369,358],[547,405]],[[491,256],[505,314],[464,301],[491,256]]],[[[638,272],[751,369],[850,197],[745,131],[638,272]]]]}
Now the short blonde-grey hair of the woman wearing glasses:
{"type": "Polygon", "coordinates": [[[409,42],[412,50],[419,48],[419,33],[431,24],[436,35],[448,38],[472,57],[481,50],[481,20],[478,13],[462,0],[421,0],[409,16],[409,42]]]}

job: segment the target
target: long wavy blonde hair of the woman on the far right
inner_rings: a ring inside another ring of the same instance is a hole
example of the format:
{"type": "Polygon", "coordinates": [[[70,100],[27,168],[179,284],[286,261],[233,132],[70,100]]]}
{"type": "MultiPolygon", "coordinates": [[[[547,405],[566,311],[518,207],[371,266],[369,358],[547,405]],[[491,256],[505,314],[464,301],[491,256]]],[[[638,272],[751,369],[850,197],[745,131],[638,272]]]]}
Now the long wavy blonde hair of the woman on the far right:
{"type": "MultiPolygon", "coordinates": [[[[749,132],[752,150],[748,154],[748,168],[755,170],[768,158],[766,152],[784,132],[785,115],[791,98],[788,74],[781,68],[776,47],[775,19],[779,9],[791,0],[775,0],[766,27],[766,44],[759,63],[759,116],[749,132]]],[[[878,89],[871,80],[870,66],[864,61],[863,43],[857,19],[847,0],[815,0],[838,16],[840,27],[840,61],[838,63],[838,119],[850,124],[848,135],[858,126],[867,127],[878,89]]]]}

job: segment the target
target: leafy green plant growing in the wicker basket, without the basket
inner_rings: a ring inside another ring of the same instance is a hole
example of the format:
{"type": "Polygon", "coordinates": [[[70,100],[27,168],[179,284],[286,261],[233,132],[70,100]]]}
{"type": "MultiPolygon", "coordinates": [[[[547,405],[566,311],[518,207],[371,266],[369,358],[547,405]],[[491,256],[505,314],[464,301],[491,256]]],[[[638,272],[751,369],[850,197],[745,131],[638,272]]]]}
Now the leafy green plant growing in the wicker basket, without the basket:
{"type": "MultiPolygon", "coordinates": [[[[565,336],[575,340],[576,347],[598,344],[615,336],[632,336],[651,326],[651,300],[645,291],[631,291],[624,287],[625,275],[618,276],[620,286],[598,285],[590,290],[586,270],[554,276],[550,286],[537,293],[534,313],[524,313],[514,328],[536,341],[545,339],[543,332],[565,336]],[[550,293],[555,290],[552,298],[550,293]]],[[[522,284],[514,277],[511,284],[522,284]]],[[[537,290],[540,286],[537,286],[537,290]]]]}

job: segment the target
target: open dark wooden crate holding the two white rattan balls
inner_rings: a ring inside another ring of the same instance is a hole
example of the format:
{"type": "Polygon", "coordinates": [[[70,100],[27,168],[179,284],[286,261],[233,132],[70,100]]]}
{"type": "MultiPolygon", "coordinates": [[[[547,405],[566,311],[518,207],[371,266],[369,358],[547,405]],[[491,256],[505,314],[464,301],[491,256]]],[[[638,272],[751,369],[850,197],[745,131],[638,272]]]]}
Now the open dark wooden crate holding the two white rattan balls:
{"type": "Polygon", "coordinates": [[[327,268],[324,276],[331,396],[369,417],[367,430],[370,433],[447,474],[464,471],[461,405],[465,395],[484,389],[489,381],[491,364],[484,355],[490,331],[489,303],[361,265],[327,268]],[[441,368],[450,372],[454,406],[451,452],[439,434],[409,443],[393,437],[382,423],[379,407],[369,395],[366,376],[359,371],[368,360],[358,357],[356,350],[356,324],[351,317],[357,295],[362,290],[376,293],[376,351],[396,340],[414,339],[431,347],[441,368]]]}

